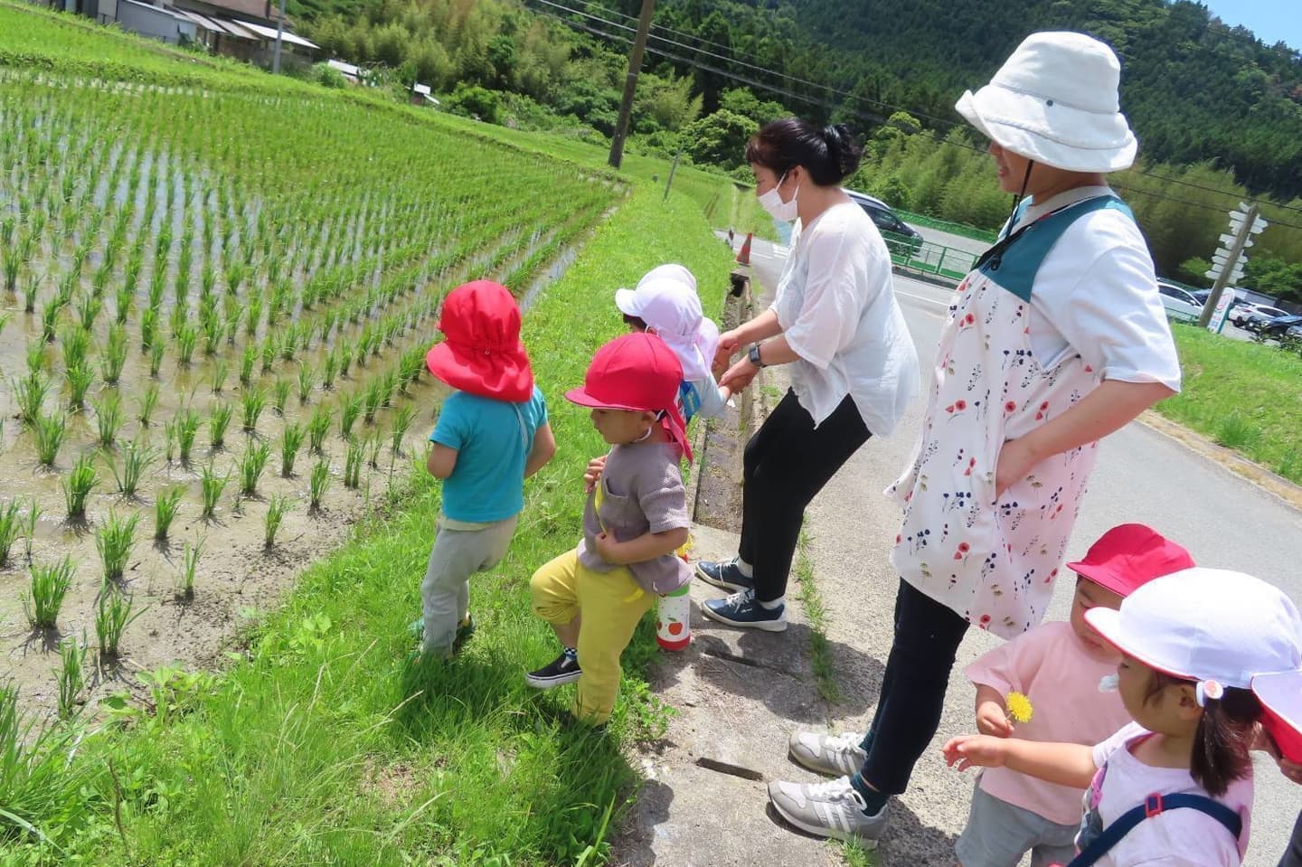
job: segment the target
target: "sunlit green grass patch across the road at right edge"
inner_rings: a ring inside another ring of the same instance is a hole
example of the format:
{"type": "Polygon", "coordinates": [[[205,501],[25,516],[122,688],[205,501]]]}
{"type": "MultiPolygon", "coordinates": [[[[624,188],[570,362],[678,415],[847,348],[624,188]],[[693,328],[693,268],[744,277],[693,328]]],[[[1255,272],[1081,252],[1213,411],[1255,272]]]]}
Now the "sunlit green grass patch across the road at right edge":
{"type": "Polygon", "coordinates": [[[1173,325],[1184,387],[1156,410],[1302,483],[1302,358],[1173,325]]]}

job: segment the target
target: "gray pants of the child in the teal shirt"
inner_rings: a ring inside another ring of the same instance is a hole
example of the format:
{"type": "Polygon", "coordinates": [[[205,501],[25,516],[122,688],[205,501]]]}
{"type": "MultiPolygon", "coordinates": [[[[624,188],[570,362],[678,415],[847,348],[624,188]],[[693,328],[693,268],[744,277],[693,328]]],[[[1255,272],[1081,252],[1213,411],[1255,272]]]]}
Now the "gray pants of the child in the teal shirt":
{"type": "Polygon", "coordinates": [[[470,612],[470,575],[492,569],[506,556],[518,516],[479,525],[477,530],[449,527],[439,516],[430,551],[430,566],[421,582],[421,613],[424,617],[422,654],[448,655],[457,637],[457,624],[470,612]]]}

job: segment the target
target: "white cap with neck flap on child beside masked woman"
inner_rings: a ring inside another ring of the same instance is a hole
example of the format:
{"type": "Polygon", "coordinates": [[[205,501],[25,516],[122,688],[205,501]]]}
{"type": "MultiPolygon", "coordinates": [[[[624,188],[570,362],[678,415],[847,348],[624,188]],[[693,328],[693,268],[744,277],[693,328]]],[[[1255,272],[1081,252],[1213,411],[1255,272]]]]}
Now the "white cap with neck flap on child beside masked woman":
{"type": "Polygon", "coordinates": [[[647,271],[635,289],[616,290],[615,306],[625,315],[638,316],[668,344],[682,365],[685,380],[710,376],[719,327],[702,312],[697,279],[687,268],[663,264],[647,271]]]}

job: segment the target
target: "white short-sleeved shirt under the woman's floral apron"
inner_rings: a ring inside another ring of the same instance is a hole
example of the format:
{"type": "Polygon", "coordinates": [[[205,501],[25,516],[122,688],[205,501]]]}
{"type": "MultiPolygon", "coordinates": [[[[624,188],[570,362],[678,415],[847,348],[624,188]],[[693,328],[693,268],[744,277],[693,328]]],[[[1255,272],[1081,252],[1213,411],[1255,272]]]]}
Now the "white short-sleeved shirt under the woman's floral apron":
{"type": "MultiPolygon", "coordinates": [[[[1107,195],[1087,186],[1032,203],[1018,225],[1107,195]]],[[[1031,293],[1031,351],[1044,370],[1079,353],[1103,379],[1180,391],[1180,357],[1139,227],[1113,208],[1075,220],[1044,258],[1031,293]]]]}

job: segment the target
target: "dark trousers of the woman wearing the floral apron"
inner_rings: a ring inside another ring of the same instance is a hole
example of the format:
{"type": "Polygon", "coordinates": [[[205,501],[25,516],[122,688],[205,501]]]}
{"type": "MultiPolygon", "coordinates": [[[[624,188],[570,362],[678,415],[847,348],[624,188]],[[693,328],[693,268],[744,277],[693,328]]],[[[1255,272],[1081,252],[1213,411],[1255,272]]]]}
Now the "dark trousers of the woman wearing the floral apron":
{"type": "Polygon", "coordinates": [[[859,776],[878,791],[901,794],[909,786],[913,765],[940,728],[949,672],[966,631],[963,617],[900,582],[894,642],[862,743],[868,758],[859,776]]]}

